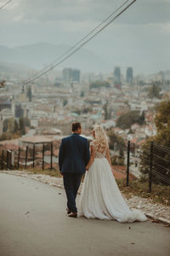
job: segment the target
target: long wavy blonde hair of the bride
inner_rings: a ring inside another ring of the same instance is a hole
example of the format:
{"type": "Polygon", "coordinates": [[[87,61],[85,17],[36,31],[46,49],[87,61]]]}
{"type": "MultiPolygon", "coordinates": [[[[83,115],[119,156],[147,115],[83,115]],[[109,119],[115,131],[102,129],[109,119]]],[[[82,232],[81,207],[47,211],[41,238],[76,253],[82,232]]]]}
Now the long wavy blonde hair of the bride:
{"type": "Polygon", "coordinates": [[[108,137],[105,134],[105,130],[101,125],[95,125],[94,131],[96,148],[100,153],[104,153],[108,147],[108,137]]]}

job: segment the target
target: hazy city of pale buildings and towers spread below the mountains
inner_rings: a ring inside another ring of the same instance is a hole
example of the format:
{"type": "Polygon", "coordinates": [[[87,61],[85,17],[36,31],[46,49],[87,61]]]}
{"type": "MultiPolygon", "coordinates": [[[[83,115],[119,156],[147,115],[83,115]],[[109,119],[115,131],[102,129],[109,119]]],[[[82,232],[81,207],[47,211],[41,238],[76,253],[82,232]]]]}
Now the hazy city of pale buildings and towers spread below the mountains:
{"type": "MultiPolygon", "coordinates": [[[[82,73],[78,68],[65,67],[30,84],[20,83],[34,73],[25,70],[11,74],[7,68],[0,73],[5,81],[0,95],[0,146],[18,150],[25,148],[22,140],[26,137],[31,142],[48,137],[56,144],[56,163],[60,140],[71,134],[75,121],[82,123],[82,136],[89,139],[98,124],[122,137],[124,143],[130,141],[131,147],[142,146],[148,137],[156,136],[156,104],[170,96],[168,71],[144,76],[134,75],[133,67],[127,67],[126,73],[121,67],[114,67],[112,73],[82,73]],[[121,121],[123,115],[129,119],[130,113],[137,119],[121,121]],[[24,128],[20,128],[21,120],[24,128]]],[[[135,157],[133,164],[131,172],[139,177],[135,157]]]]}

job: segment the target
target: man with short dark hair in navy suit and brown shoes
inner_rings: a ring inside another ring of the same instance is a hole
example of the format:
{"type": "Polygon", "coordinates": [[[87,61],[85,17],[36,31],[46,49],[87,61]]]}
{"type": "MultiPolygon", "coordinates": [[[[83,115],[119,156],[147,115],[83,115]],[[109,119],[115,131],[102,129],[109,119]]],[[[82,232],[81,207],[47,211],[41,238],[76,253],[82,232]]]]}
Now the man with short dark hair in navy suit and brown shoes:
{"type": "Polygon", "coordinates": [[[63,138],[59,148],[59,171],[63,175],[67,213],[73,218],[77,218],[77,190],[89,160],[88,140],[81,137],[81,133],[81,123],[73,123],[72,135],[63,138]]]}

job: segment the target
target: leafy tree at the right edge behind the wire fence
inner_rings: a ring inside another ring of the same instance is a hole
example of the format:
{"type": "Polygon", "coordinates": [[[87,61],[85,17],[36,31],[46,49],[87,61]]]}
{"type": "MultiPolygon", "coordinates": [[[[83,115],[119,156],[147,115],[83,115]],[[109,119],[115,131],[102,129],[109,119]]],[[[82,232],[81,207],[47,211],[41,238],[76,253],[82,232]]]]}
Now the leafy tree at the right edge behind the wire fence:
{"type": "Polygon", "coordinates": [[[143,145],[141,154],[141,172],[143,178],[146,178],[150,170],[150,142],[154,142],[153,147],[153,171],[158,173],[153,175],[153,180],[157,183],[167,184],[163,177],[170,177],[170,101],[161,102],[156,108],[155,125],[157,134],[150,137],[143,145]],[[168,153],[169,152],[169,153],[168,153]]]}

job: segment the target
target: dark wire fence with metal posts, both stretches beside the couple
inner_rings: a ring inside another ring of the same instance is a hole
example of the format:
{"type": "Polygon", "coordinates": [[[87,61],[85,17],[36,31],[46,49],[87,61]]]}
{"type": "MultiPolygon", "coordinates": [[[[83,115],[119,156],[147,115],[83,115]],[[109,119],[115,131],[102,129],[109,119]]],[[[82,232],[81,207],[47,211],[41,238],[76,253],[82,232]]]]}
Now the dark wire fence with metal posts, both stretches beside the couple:
{"type": "MultiPolygon", "coordinates": [[[[59,143],[27,145],[18,150],[1,149],[1,170],[36,168],[59,171],[58,153],[59,143]]],[[[155,142],[150,142],[145,148],[136,147],[128,141],[126,144],[113,143],[111,154],[113,169],[123,174],[127,186],[131,177],[141,175],[148,179],[150,192],[152,183],[170,185],[170,148],[155,142]]]]}

